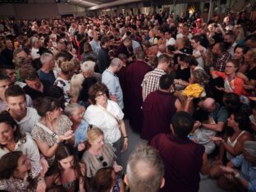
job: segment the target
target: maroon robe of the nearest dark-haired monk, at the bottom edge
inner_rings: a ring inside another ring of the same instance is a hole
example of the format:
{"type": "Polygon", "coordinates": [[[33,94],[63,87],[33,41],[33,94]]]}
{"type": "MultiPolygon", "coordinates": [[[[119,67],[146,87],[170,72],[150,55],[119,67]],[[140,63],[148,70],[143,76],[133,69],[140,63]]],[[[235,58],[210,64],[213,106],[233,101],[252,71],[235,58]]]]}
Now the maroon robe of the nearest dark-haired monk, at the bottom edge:
{"type": "Polygon", "coordinates": [[[160,192],[198,192],[204,147],[190,139],[159,134],[151,142],[164,164],[165,185],[160,192]]]}

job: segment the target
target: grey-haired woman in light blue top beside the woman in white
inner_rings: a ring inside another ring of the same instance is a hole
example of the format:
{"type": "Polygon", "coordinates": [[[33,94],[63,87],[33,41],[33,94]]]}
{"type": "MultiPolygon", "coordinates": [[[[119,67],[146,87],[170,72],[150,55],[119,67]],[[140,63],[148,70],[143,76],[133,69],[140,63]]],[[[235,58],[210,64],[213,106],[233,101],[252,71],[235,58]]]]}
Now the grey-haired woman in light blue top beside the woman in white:
{"type": "MultiPolygon", "coordinates": [[[[75,146],[79,149],[85,149],[85,140],[87,140],[88,123],[83,118],[85,115],[85,107],[80,104],[68,104],[64,113],[72,121],[71,129],[74,131],[75,146]]],[[[79,150],[79,151],[80,151],[79,150]]]]}

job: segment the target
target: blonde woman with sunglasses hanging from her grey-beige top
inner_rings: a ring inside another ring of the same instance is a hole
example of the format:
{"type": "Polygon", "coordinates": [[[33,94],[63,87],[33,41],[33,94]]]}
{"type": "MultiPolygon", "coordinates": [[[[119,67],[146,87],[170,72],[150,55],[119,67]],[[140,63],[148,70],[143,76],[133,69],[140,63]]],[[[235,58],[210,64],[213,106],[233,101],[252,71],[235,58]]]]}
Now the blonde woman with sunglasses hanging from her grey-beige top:
{"type": "Polygon", "coordinates": [[[85,151],[82,162],[86,165],[86,176],[92,178],[103,167],[113,167],[116,172],[122,167],[117,165],[116,155],[111,144],[104,143],[103,131],[95,127],[88,131],[89,149],[85,151]]]}

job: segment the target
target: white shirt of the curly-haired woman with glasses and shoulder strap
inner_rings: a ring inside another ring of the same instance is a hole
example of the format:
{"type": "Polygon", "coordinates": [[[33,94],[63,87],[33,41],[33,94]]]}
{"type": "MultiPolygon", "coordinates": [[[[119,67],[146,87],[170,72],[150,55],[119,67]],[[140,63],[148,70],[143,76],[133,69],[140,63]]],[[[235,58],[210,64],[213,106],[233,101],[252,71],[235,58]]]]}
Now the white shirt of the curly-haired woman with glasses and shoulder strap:
{"type": "MultiPolygon", "coordinates": [[[[111,112],[112,115],[119,120],[122,120],[124,117],[121,108],[112,100],[107,100],[107,111],[111,112]]],[[[117,120],[108,112],[98,105],[90,105],[85,111],[85,121],[87,121],[89,125],[96,126],[103,130],[105,142],[107,144],[113,144],[121,138],[121,131],[119,130],[117,120]]]]}

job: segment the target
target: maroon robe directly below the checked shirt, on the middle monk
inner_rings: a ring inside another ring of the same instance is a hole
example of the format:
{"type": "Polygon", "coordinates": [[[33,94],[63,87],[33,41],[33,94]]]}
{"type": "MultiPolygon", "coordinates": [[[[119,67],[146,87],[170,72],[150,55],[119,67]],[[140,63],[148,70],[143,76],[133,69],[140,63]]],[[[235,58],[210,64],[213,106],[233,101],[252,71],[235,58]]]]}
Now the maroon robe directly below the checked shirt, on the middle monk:
{"type": "Polygon", "coordinates": [[[171,133],[171,117],[176,112],[176,97],[161,90],[151,92],[143,103],[144,123],[140,137],[151,140],[160,133],[171,133]]]}

